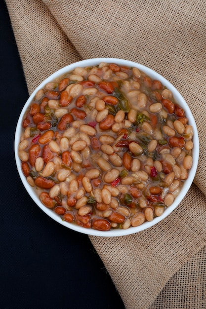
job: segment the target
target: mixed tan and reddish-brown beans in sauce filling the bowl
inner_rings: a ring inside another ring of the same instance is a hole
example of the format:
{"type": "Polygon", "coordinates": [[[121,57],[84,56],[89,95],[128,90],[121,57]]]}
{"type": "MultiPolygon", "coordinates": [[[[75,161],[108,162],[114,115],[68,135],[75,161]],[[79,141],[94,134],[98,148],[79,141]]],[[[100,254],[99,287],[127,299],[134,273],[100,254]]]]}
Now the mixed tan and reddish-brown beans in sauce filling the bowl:
{"type": "Polygon", "coordinates": [[[99,231],[161,216],[192,167],[193,127],[139,69],[100,63],[40,89],[22,121],[22,171],[45,207],[99,231]]]}

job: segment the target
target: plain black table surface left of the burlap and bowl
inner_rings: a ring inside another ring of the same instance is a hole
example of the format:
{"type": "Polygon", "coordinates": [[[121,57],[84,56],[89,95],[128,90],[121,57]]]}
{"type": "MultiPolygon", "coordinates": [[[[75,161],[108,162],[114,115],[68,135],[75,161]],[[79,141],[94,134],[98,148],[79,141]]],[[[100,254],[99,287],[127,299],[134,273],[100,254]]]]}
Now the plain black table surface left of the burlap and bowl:
{"type": "Polygon", "coordinates": [[[14,134],[27,98],[9,15],[0,0],[0,308],[124,308],[88,236],[47,217],[21,183],[14,134]]]}

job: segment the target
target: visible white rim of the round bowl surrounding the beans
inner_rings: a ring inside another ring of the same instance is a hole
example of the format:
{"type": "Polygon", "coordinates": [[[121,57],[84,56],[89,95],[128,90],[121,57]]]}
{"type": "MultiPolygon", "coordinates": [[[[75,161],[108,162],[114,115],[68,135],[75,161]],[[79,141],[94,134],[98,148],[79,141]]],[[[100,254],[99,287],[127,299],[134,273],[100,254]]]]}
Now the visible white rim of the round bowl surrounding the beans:
{"type": "Polygon", "coordinates": [[[70,64],[62,69],[60,69],[59,71],[55,72],[54,74],[52,74],[50,77],[46,78],[37,88],[36,90],[31,94],[31,96],[29,97],[29,99],[27,100],[21,115],[19,116],[19,120],[17,123],[17,127],[16,127],[16,133],[15,133],[15,158],[16,158],[16,164],[17,164],[17,169],[20,175],[20,178],[23,182],[23,185],[25,187],[25,189],[27,190],[27,192],[30,194],[30,196],[33,198],[33,200],[35,201],[35,203],[52,219],[54,219],[56,222],[62,224],[63,226],[75,230],[77,232],[82,232],[84,234],[89,234],[89,235],[97,235],[97,236],[122,236],[122,235],[127,235],[127,234],[132,234],[132,233],[136,233],[136,232],[140,232],[143,231],[145,229],[148,229],[152,226],[154,226],[155,224],[157,224],[158,222],[162,221],[165,219],[165,217],[167,217],[178,205],[179,203],[182,201],[182,199],[184,198],[184,196],[186,195],[186,193],[188,192],[193,179],[195,177],[195,173],[196,173],[196,169],[197,169],[197,165],[198,165],[198,158],[199,158],[199,138],[198,138],[198,131],[197,131],[197,127],[196,127],[196,123],[194,120],[194,117],[192,116],[192,113],[187,105],[187,103],[185,102],[185,100],[183,99],[183,97],[181,96],[181,94],[177,91],[177,89],[168,81],[166,80],[164,77],[162,77],[160,74],[156,73],[155,71],[140,65],[138,63],[132,62],[132,61],[127,61],[127,60],[123,60],[123,59],[117,59],[117,58],[94,58],[94,59],[87,59],[87,60],[83,60],[83,61],[79,61],[73,64],[70,64]],[[188,118],[188,123],[190,125],[193,126],[193,130],[194,130],[194,137],[193,137],[193,143],[194,143],[194,148],[193,148],[193,165],[192,168],[189,171],[189,176],[186,179],[186,181],[184,182],[184,185],[181,189],[181,192],[179,193],[179,195],[175,198],[173,204],[169,207],[167,207],[163,213],[162,216],[160,217],[156,217],[154,218],[153,221],[151,222],[145,222],[142,225],[138,226],[138,227],[130,227],[129,229],[123,230],[123,229],[118,229],[118,230],[110,230],[110,231],[106,231],[106,232],[101,232],[101,231],[97,231],[97,230],[93,230],[93,229],[86,229],[83,227],[80,227],[76,224],[72,224],[72,223],[68,223],[66,221],[62,221],[61,217],[59,215],[57,215],[53,210],[46,208],[40,201],[39,197],[37,196],[37,194],[35,193],[35,191],[33,190],[33,188],[28,184],[26,177],[24,176],[22,170],[21,170],[21,161],[18,157],[18,145],[19,145],[19,141],[20,141],[20,136],[21,136],[21,132],[22,132],[22,119],[23,116],[25,115],[29,105],[31,104],[33,98],[35,97],[35,94],[37,93],[37,91],[39,89],[41,89],[42,87],[44,87],[44,85],[47,82],[53,81],[54,79],[56,79],[57,77],[60,77],[62,75],[64,75],[67,72],[70,72],[72,70],[74,70],[77,67],[89,67],[89,66],[95,66],[98,65],[101,62],[106,62],[106,63],[116,63],[119,65],[125,65],[128,67],[136,67],[139,70],[145,72],[148,76],[150,76],[153,79],[158,79],[162,82],[162,84],[169,90],[172,91],[173,97],[176,101],[176,103],[178,103],[185,111],[185,116],[188,118]]]}

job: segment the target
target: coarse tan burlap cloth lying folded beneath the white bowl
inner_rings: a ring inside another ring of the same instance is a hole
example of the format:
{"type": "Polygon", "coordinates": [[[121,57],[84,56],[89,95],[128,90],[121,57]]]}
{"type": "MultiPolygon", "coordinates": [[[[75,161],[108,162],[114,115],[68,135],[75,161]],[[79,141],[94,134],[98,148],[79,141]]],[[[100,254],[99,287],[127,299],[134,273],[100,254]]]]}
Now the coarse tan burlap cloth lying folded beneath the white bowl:
{"type": "Polygon", "coordinates": [[[205,1],[6,0],[6,4],[30,93],[65,65],[116,57],[154,69],[187,101],[199,130],[200,160],[183,202],[147,231],[90,240],[125,308],[206,308],[205,1]]]}

